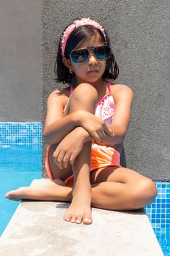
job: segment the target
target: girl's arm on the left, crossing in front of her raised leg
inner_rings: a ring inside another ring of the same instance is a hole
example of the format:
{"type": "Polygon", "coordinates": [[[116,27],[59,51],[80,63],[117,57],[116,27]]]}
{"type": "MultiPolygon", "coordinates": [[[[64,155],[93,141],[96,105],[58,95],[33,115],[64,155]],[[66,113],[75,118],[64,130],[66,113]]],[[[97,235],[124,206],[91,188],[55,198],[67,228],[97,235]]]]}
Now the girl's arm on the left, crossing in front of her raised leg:
{"type": "MultiPolygon", "coordinates": [[[[53,91],[47,99],[47,117],[43,132],[46,143],[61,142],[75,127],[83,127],[98,142],[105,138],[105,133],[112,136],[112,130],[100,118],[85,110],[77,110],[70,114],[66,111],[68,113],[65,115],[63,114],[64,105],[66,105],[66,100],[59,90],[53,91]]],[[[67,110],[68,107],[69,104],[67,110]]]]}

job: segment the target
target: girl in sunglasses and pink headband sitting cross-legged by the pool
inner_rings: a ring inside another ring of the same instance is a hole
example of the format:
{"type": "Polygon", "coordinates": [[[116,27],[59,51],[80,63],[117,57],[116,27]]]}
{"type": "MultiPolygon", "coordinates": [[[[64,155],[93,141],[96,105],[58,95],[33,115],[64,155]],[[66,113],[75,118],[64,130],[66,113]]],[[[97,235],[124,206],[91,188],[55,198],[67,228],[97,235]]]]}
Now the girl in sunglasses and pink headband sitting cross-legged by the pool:
{"type": "Polygon", "coordinates": [[[69,89],[56,89],[47,99],[50,180],[6,197],[71,202],[63,219],[77,224],[92,223],[90,206],[127,211],[152,203],[152,180],[120,165],[134,94],[110,82],[118,67],[107,31],[90,18],[74,20],[61,36],[55,74],[69,89]]]}

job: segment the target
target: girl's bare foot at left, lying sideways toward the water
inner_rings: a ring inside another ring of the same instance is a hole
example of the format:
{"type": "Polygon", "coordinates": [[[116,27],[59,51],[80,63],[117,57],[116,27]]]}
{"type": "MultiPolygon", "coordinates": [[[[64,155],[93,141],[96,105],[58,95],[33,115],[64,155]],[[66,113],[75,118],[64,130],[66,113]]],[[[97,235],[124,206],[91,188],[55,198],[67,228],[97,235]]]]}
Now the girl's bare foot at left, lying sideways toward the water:
{"type": "Polygon", "coordinates": [[[31,187],[20,187],[16,190],[11,190],[7,192],[5,197],[9,200],[19,201],[22,199],[30,200],[54,200],[56,199],[56,191],[61,186],[66,186],[63,181],[57,179],[55,181],[47,180],[45,184],[31,187]],[[60,186],[58,186],[60,185],[60,186]],[[55,194],[53,193],[53,187],[55,188],[55,194]]]}

